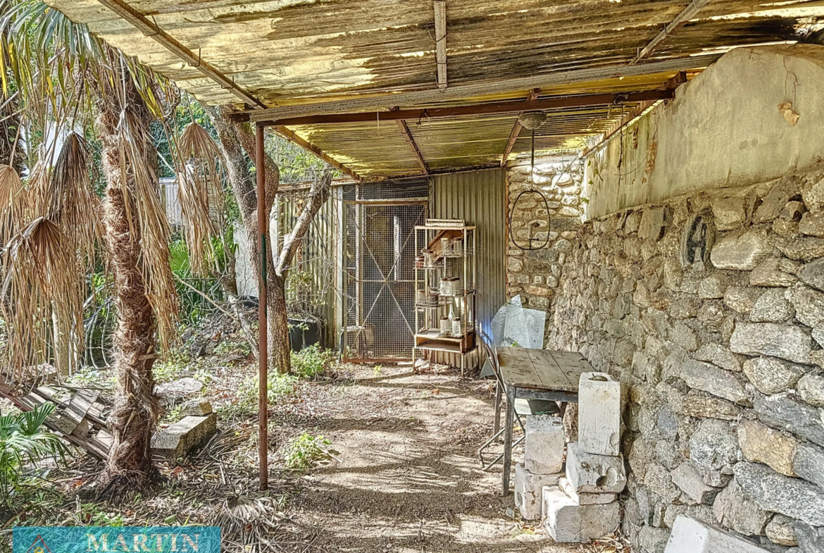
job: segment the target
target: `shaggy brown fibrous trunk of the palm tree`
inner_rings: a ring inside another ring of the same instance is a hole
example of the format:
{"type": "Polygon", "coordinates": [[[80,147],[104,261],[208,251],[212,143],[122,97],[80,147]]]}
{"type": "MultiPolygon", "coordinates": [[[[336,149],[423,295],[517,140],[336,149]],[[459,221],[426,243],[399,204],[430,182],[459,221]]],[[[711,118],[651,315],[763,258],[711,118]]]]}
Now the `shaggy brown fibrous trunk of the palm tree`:
{"type": "MultiPolygon", "coordinates": [[[[124,82],[127,86],[131,84],[129,79],[124,82]]],[[[131,106],[142,112],[142,119],[147,123],[149,115],[140,97],[133,87],[129,92],[131,106]]],[[[98,492],[107,494],[122,490],[122,485],[128,485],[130,490],[143,489],[154,476],[150,445],[158,412],[152,376],[157,339],[154,313],[143,278],[140,230],[133,217],[136,210],[126,204],[128,199],[123,194],[124,184],[128,183],[123,182],[117,144],[119,112],[110,101],[101,101],[99,107],[97,131],[106,180],[102,206],[104,243],[115,277],[118,314],[114,337],[117,389],[110,415],[114,441],[100,476],[98,492]]]]}

